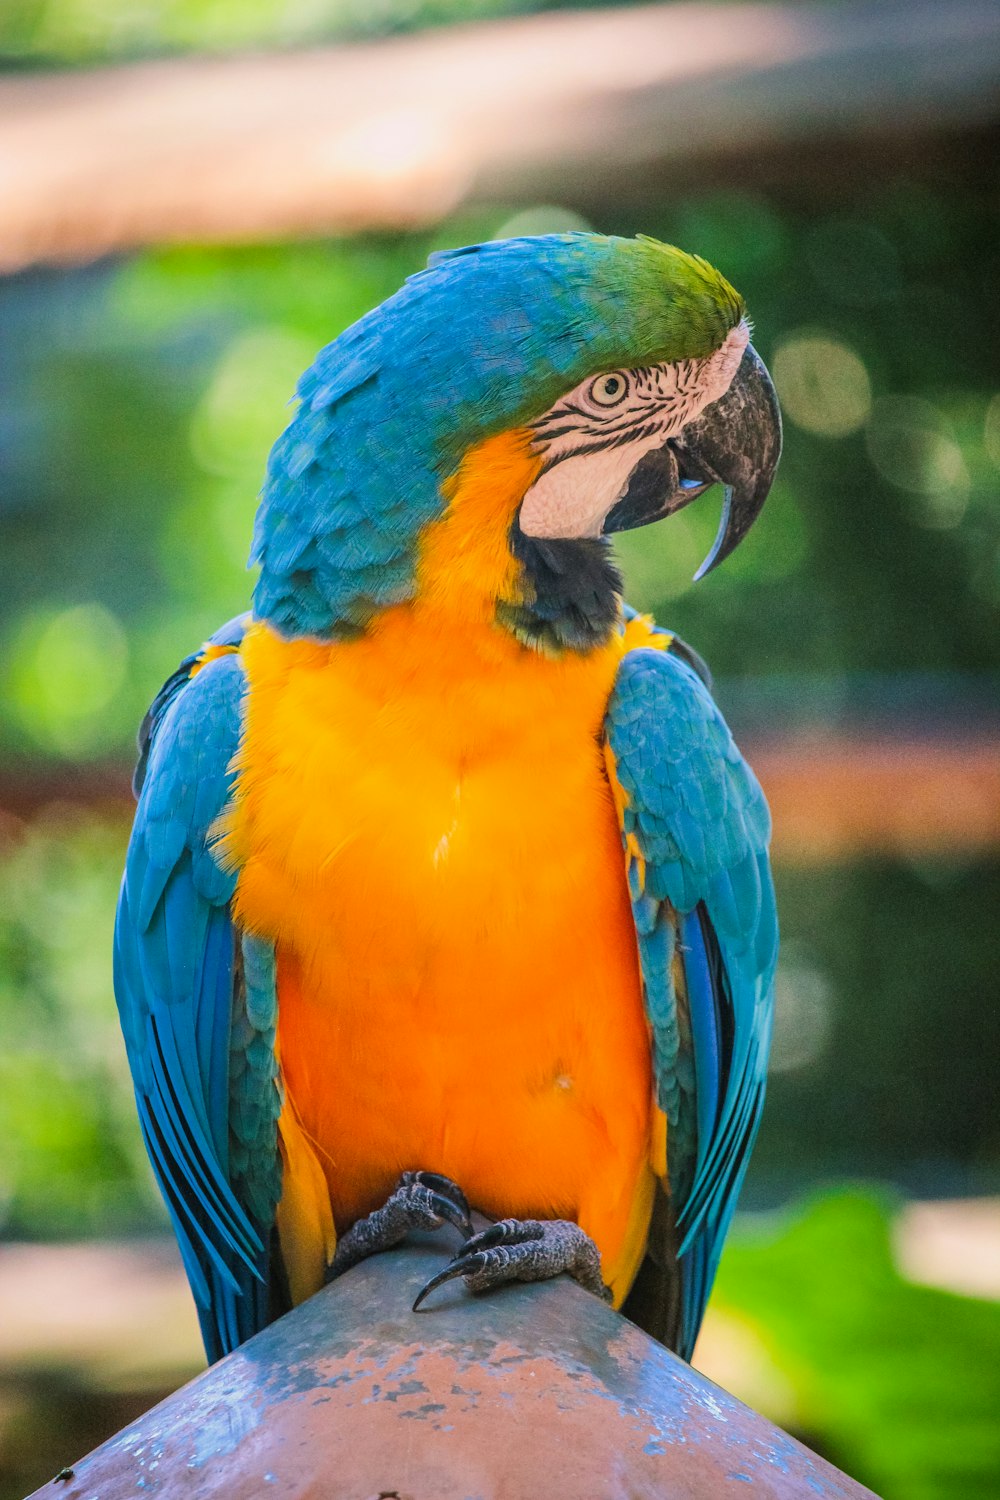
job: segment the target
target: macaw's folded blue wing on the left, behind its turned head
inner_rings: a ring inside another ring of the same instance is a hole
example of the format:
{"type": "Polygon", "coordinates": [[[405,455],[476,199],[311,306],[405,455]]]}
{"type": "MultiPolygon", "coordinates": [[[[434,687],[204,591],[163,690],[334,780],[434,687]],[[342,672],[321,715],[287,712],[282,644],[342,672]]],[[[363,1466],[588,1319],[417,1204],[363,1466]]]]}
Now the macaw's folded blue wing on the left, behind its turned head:
{"type": "Polygon", "coordinates": [[[114,984],[139,1124],[208,1359],[267,1322],[280,1192],[273,948],[234,928],[213,855],[244,693],[231,621],[163,684],[139,730],[114,984]]]}

